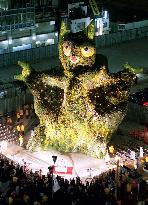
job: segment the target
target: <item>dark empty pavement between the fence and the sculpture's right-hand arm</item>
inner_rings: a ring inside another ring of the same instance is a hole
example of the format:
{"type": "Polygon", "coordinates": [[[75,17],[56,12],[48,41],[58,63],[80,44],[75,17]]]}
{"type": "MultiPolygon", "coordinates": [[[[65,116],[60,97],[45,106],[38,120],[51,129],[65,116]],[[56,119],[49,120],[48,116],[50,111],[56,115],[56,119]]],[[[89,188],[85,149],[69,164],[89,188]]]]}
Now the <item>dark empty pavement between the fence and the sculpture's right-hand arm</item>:
{"type": "Polygon", "coordinates": [[[107,56],[111,72],[118,72],[125,63],[142,67],[148,72],[148,37],[131,40],[110,47],[100,48],[99,53],[107,56]]]}

